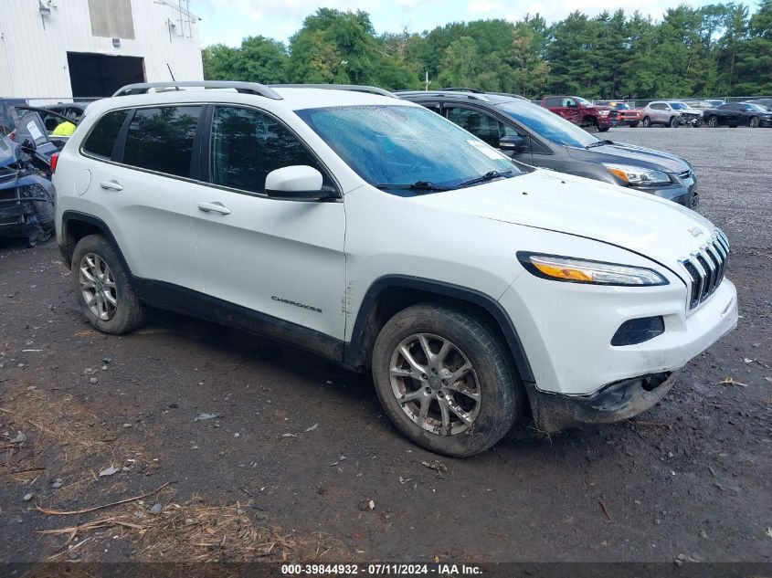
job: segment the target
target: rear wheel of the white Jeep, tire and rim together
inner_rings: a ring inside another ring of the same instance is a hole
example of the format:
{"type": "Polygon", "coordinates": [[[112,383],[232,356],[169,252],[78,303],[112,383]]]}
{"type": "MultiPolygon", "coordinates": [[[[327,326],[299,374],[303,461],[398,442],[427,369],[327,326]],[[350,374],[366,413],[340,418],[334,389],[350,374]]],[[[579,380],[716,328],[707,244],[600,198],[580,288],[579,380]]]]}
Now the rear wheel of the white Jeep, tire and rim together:
{"type": "Polygon", "coordinates": [[[79,240],[72,253],[72,277],[80,309],[94,328],[120,335],[143,324],[143,305],[118,251],[104,236],[79,240]]]}

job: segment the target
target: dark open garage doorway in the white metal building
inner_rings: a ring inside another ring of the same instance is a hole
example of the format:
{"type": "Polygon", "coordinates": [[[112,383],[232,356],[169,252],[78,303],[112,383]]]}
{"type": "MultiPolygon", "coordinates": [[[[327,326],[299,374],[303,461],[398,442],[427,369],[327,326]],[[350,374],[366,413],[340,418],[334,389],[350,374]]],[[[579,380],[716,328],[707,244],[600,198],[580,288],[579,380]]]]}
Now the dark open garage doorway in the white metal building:
{"type": "Polygon", "coordinates": [[[111,96],[132,82],[144,82],[144,59],[68,52],[69,84],[75,98],[111,96]]]}

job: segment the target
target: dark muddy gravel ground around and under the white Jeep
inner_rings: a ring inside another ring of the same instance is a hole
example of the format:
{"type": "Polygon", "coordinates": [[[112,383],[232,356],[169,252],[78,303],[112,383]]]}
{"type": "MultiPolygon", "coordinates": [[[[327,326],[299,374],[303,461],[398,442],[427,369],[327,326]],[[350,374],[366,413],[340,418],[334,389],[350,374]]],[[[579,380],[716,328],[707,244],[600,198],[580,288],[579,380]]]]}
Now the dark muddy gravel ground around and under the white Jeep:
{"type": "Polygon", "coordinates": [[[0,562],[772,561],[772,130],[606,136],[694,164],[739,326],[638,418],[466,460],[289,347],[161,312],[92,331],[54,243],[0,247],[0,562]]]}

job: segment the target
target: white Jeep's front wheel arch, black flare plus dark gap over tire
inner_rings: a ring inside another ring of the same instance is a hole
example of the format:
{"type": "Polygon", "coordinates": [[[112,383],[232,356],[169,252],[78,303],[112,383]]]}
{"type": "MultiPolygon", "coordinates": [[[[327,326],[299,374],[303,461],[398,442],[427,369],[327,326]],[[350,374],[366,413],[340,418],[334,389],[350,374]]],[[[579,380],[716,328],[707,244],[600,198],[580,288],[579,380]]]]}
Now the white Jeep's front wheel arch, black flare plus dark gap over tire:
{"type": "Polygon", "coordinates": [[[506,344],[515,370],[523,383],[534,383],[534,373],[512,320],[501,304],[475,289],[426,278],[390,275],[367,289],[356,314],[351,342],[344,346],[344,363],[368,367],[375,338],[397,312],[420,302],[434,300],[474,313],[506,344]]]}

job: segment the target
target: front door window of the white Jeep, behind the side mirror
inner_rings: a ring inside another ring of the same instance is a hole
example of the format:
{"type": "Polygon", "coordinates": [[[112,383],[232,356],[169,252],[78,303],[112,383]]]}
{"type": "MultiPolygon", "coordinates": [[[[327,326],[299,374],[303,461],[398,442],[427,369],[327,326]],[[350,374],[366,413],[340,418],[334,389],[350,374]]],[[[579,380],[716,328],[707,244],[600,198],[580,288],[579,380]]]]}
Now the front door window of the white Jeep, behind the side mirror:
{"type": "MultiPolygon", "coordinates": [[[[285,166],[312,166],[324,174],[289,129],[258,110],[218,106],[209,156],[212,183],[250,193],[265,193],[268,173],[285,166]]],[[[324,183],[331,185],[326,177],[324,183]]]]}

